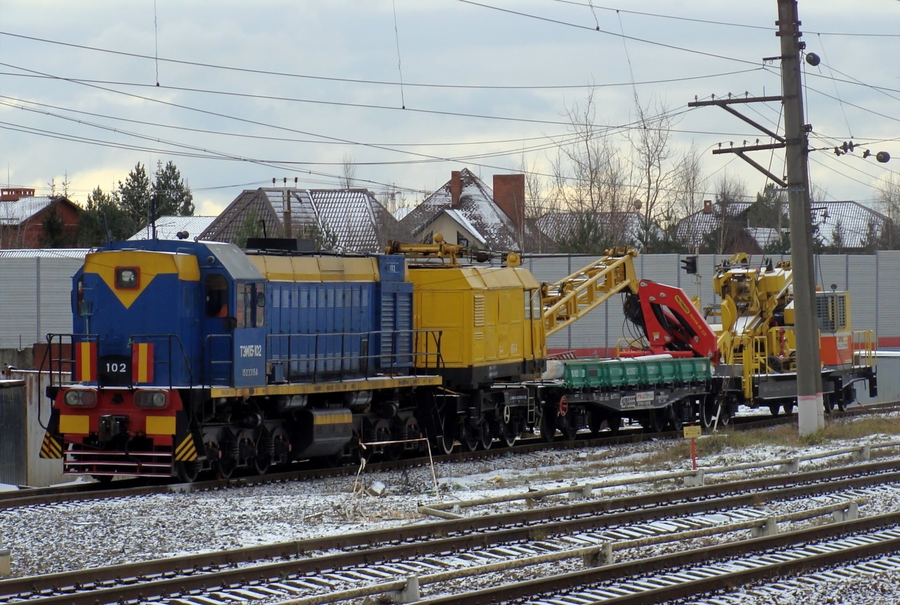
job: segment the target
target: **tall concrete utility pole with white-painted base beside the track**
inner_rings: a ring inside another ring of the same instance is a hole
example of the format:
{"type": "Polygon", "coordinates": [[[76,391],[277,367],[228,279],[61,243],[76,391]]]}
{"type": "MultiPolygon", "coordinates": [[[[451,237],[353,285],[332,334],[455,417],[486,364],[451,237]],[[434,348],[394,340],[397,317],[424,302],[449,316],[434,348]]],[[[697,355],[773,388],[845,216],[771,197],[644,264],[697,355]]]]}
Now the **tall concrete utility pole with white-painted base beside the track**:
{"type": "Polygon", "coordinates": [[[781,89],[785,113],[791,266],[794,271],[794,334],[797,339],[797,409],[801,435],[824,429],[819,327],[815,319],[815,270],[810,219],[807,132],[800,83],[800,20],[797,0],[778,0],[781,89]]]}

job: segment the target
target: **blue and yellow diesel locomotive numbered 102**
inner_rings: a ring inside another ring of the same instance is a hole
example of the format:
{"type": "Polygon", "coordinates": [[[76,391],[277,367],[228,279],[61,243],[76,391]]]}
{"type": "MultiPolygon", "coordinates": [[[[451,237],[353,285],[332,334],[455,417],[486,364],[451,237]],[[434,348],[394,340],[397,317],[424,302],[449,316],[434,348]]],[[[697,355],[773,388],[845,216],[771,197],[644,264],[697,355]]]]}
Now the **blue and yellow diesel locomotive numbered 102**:
{"type": "Polygon", "coordinates": [[[413,371],[413,343],[423,368],[439,351],[413,330],[405,278],[399,255],[99,248],[73,278],[74,333],[51,337],[76,382],[50,389],[42,451],[67,474],[193,480],[418,438],[409,393],[441,379],[413,371]]]}

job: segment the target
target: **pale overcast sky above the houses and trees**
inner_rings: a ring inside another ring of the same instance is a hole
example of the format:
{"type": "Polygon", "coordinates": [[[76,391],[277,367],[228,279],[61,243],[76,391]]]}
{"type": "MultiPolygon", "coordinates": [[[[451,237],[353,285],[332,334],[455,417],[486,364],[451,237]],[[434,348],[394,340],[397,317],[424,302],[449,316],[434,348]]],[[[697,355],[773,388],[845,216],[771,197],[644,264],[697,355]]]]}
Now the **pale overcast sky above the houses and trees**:
{"type": "MultiPolygon", "coordinates": [[[[871,202],[900,169],[900,2],[801,0],[811,146],[826,199],[871,202]]],[[[298,178],[397,187],[411,202],[469,167],[491,185],[523,156],[550,172],[566,109],[596,86],[596,122],[663,104],[673,144],[749,192],[765,177],[719,143],[768,140],[695,96],[779,95],[776,0],[0,0],[0,181],[84,203],[139,162],[172,160],[215,214],[246,188],[298,178]],[[618,10],[617,10],[618,9],[618,10]],[[402,85],[401,85],[402,82],[402,85]],[[157,86],[158,83],[158,86],[157,86]],[[405,109],[404,109],[405,107],[405,109]]],[[[740,108],[775,129],[779,104],[740,108]]],[[[655,113],[655,110],[652,112],[655,113]]],[[[617,140],[621,140],[620,135],[617,140]]],[[[783,158],[754,159],[783,174],[783,158]]]]}

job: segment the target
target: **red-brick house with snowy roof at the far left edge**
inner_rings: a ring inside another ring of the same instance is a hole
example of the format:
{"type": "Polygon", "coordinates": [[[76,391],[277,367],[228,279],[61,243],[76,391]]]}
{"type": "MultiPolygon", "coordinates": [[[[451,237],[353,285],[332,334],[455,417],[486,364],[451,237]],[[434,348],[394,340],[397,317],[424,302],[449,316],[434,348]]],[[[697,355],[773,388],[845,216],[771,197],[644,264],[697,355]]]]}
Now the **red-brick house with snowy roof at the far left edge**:
{"type": "Polygon", "coordinates": [[[48,247],[45,225],[55,215],[58,233],[51,246],[75,241],[81,208],[62,195],[35,195],[34,189],[16,187],[0,190],[0,248],[48,247]]]}

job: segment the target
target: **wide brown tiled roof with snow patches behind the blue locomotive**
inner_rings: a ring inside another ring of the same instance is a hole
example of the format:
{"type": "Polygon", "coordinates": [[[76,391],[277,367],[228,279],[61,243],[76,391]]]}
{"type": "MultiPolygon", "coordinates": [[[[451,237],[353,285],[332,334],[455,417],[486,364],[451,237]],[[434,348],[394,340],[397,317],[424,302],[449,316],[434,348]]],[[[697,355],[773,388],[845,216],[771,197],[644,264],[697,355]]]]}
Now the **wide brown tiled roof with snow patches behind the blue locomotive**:
{"type": "Polygon", "coordinates": [[[200,234],[241,246],[249,237],[311,239],[317,249],[344,252],[378,252],[392,240],[412,241],[370,191],[295,187],[247,189],[200,234]]]}

